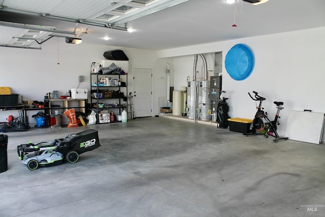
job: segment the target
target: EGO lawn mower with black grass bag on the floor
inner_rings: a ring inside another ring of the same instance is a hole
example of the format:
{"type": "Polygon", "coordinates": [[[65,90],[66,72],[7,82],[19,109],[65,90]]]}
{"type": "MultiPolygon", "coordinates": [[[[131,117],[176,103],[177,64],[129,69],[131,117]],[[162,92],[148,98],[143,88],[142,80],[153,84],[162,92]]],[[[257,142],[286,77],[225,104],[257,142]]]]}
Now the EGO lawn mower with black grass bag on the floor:
{"type": "Polygon", "coordinates": [[[98,131],[86,130],[77,134],[70,134],[63,139],[53,142],[21,144],[17,146],[18,158],[29,170],[36,170],[39,166],[52,166],[63,163],[76,163],[79,154],[98,148],[100,145],[98,131]]]}

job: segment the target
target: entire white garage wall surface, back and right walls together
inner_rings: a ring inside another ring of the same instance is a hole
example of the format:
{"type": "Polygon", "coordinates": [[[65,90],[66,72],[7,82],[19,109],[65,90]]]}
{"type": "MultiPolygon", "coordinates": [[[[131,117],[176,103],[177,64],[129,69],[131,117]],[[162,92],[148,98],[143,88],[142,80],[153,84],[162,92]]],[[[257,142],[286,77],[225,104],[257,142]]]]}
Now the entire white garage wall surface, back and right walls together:
{"type": "MultiPolygon", "coordinates": [[[[322,60],[325,56],[325,27],[158,52],[89,44],[72,45],[59,39],[59,65],[56,39],[45,42],[42,50],[0,47],[0,86],[10,86],[13,93],[23,95],[24,100],[42,101],[48,91],[59,90],[60,94],[64,94],[68,89],[76,88],[78,76],[83,75],[85,81],[79,88],[89,89],[91,62],[104,59],[103,53],[107,50],[122,49],[130,59],[130,69],[133,65],[154,66],[153,114],[158,114],[158,98],[167,96],[167,63],[171,65],[171,85],[179,90],[181,86],[186,86],[187,76],[192,80],[193,54],[204,53],[208,70],[214,70],[214,53],[222,52],[224,63],[226,53],[238,43],[252,49],[255,68],[246,80],[235,81],[222,66],[223,89],[230,98],[229,114],[232,117],[253,117],[255,103],[247,95],[252,90],[267,98],[264,107],[269,116],[273,117],[276,112],[273,101],[284,102],[285,109],[280,113],[281,135],[285,134],[290,110],[325,112],[325,63],[322,60]]],[[[197,70],[198,77],[202,77],[203,62],[200,56],[197,70]]],[[[209,72],[209,75],[213,75],[213,72],[209,72]]],[[[132,72],[129,70],[130,78],[132,72]]],[[[129,88],[132,89],[132,85],[129,88]]],[[[0,112],[0,121],[5,121],[8,115],[8,112],[0,112]]]]}

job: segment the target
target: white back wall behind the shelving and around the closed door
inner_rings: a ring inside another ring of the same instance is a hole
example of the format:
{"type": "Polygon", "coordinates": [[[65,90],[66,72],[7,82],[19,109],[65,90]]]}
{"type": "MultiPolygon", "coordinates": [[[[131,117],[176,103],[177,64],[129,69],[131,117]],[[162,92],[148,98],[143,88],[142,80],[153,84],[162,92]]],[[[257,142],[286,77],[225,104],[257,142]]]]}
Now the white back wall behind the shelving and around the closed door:
{"type": "MultiPolygon", "coordinates": [[[[0,86],[9,86],[12,93],[23,96],[24,100],[43,101],[46,92],[58,90],[60,95],[67,90],[77,88],[78,76],[84,76],[84,82],[79,88],[90,88],[90,65],[93,61],[105,59],[103,53],[107,50],[121,49],[129,58],[128,91],[132,90],[133,65],[141,67],[155,66],[153,76],[153,92],[160,96],[165,94],[165,80],[158,78],[166,73],[166,63],[169,60],[157,59],[156,51],[90,44],[67,44],[64,38],[53,38],[42,44],[42,50],[0,47],[0,86]],[[58,56],[59,48],[59,56],[58,56]],[[59,61],[59,65],[57,64],[59,61]],[[156,82],[156,83],[155,83],[156,82]],[[164,90],[162,90],[164,89],[164,90]]],[[[128,95],[128,93],[124,93],[128,95]]],[[[166,94],[165,94],[166,96],[166,94]]],[[[154,111],[158,113],[158,100],[154,97],[154,111]]],[[[31,118],[37,111],[30,111],[29,122],[35,125],[31,118]]],[[[16,115],[14,111],[1,111],[0,122],[6,121],[8,115],[16,115]]]]}

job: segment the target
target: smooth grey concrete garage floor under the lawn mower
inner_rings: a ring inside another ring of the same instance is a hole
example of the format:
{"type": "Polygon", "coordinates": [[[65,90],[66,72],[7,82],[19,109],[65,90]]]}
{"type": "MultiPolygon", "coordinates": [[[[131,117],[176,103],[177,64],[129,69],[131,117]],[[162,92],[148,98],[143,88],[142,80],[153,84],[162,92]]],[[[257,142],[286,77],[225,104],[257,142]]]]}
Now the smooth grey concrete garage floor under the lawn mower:
{"type": "Polygon", "coordinates": [[[2,217],[325,216],[323,144],[166,117],[7,135],[2,217]],[[75,164],[30,171],[17,158],[18,144],[85,129],[98,130],[102,146],[75,164]]]}

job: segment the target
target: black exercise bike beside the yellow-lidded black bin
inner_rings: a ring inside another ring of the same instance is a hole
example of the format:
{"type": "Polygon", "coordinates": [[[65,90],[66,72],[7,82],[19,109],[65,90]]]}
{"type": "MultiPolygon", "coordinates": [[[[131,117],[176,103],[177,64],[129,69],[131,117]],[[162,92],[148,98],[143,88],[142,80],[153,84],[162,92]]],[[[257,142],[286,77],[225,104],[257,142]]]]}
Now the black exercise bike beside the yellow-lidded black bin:
{"type": "Polygon", "coordinates": [[[259,105],[257,106],[257,112],[255,114],[255,117],[253,119],[252,123],[252,132],[251,133],[246,133],[244,135],[253,135],[253,134],[264,134],[265,138],[268,138],[269,135],[275,137],[273,139],[274,142],[277,142],[278,140],[284,139],[287,140],[288,137],[280,137],[279,134],[277,133],[277,125],[280,125],[280,122],[278,118],[280,118],[279,113],[280,110],[284,109],[282,107],[283,102],[274,102],[274,104],[277,106],[276,108],[278,109],[274,120],[270,120],[266,114],[266,112],[262,108],[262,103],[264,100],[266,100],[264,97],[261,97],[258,95],[258,92],[253,91],[255,94],[254,98],[250,95],[248,92],[248,95],[250,98],[254,101],[259,101],[259,105]]]}

